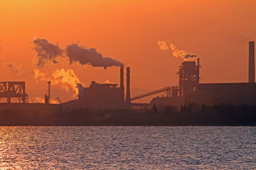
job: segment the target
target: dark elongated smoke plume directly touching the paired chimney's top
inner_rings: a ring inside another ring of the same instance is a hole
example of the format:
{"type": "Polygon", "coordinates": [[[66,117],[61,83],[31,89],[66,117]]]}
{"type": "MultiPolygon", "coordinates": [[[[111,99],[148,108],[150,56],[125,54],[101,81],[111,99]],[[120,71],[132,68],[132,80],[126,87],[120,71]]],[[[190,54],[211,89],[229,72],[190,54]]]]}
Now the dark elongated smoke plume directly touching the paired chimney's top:
{"type": "Polygon", "coordinates": [[[93,67],[107,67],[123,66],[122,62],[111,59],[110,57],[103,57],[101,53],[97,52],[95,48],[85,48],[77,44],[67,46],[67,56],[70,64],[79,62],[82,65],[90,64],[93,67]]]}

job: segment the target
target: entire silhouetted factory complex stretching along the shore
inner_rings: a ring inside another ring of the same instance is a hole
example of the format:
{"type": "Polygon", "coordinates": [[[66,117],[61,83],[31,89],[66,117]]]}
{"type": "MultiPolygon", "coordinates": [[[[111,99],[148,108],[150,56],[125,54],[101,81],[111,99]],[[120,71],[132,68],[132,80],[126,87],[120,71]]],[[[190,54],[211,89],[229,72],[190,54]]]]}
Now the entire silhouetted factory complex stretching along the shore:
{"type": "Polygon", "coordinates": [[[186,60],[179,66],[179,85],[164,87],[139,96],[130,94],[131,71],[130,67],[120,66],[120,84],[97,83],[92,81],[89,87],[77,85],[78,96],[76,100],[61,104],[51,104],[51,81],[48,81],[49,92],[45,94],[45,103],[27,103],[25,82],[6,81],[0,82],[0,97],[6,98],[7,103],[0,103],[0,110],[8,108],[40,108],[40,110],[56,107],[64,110],[79,108],[89,109],[143,109],[152,106],[180,106],[181,104],[234,104],[256,106],[256,83],[255,83],[255,44],[249,42],[249,71],[248,82],[244,83],[200,83],[200,59],[196,61],[186,60]],[[125,69],[125,71],[124,71],[125,69]],[[126,73],[126,89],[124,88],[124,72],[126,73]],[[166,92],[164,97],[154,97],[150,103],[134,103],[136,99],[166,92]],[[17,97],[20,103],[12,103],[12,98],[17,97]]]}

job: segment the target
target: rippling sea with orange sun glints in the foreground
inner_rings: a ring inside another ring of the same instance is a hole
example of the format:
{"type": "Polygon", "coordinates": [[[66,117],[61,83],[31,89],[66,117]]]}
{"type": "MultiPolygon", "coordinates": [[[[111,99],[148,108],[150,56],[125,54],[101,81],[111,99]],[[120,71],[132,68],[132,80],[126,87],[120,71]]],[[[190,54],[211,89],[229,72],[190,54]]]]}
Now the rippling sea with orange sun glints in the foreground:
{"type": "Polygon", "coordinates": [[[256,127],[0,127],[0,169],[256,169],[256,127]]]}

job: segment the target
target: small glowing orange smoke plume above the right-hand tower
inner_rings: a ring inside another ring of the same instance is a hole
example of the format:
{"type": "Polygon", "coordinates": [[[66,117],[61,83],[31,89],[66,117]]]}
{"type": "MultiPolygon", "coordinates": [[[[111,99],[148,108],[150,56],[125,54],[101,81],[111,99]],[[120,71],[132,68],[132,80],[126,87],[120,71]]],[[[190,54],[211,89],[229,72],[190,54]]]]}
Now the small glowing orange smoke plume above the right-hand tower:
{"type": "Polygon", "coordinates": [[[173,45],[173,43],[170,43],[170,45],[167,45],[168,42],[167,41],[157,41],[159,48],[163,51],[165,50],[171,50],[172,51],[172,55],[174,57],[182,57],[182,59],[184,60],[191,60],[191,59],[195,59],[198,58],[198,55],[196,54],[191,54],[188,52],[185,52],[184,50],[179,50],[179,48],[177,48],[177,46],[173,45]]]}

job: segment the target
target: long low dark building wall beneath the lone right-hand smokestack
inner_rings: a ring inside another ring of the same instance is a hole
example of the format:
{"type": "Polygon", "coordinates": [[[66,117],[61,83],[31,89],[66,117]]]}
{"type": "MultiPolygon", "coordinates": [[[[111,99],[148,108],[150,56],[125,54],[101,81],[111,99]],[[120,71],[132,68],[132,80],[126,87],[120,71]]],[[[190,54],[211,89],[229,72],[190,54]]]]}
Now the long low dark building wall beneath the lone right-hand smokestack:
{"type": "Polygon", "coordinates": [[[256,83],[202,83],[186,96],[186,103],[255,105],[256,83]]]}

